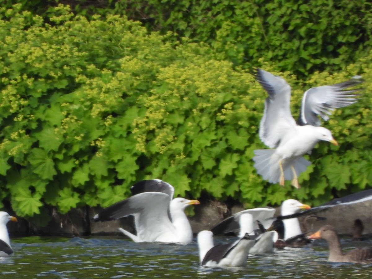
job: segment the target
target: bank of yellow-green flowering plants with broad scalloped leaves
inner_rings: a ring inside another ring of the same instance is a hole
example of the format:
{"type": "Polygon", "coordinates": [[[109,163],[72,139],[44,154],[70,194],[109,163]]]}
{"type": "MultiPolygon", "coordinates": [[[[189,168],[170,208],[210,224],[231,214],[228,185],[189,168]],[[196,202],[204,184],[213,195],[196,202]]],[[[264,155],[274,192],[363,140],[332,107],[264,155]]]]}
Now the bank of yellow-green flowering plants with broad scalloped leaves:
{"type": "MultiPolygon", "coordinates": [[[[125,17],[75,16],[58,6],[42,17],[0,8],[0,199],[20,216],[108,206],[135,181],[160,178],[176,195],[232,197],[246,206],[287,197],[327,201],[332,188],[363,189],[371,174],[371,57],[339,74],[315,73],[303,88],[361,73],[365,95],[327,125],[340,147],[321,143],[302,188],[269,185],[253,150],[266,92],[203,43],[148,33],[125,17]]],[[[273,65],[261,63],[269,71],[273,65]]]]}

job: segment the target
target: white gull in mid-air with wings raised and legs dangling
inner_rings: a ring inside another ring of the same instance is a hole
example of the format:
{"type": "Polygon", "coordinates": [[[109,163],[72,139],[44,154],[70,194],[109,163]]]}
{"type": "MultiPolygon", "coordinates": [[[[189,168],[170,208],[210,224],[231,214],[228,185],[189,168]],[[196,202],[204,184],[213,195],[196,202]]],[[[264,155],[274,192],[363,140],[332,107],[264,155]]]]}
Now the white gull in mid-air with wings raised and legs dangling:
{"type": "Polygon", "coordinates": [[[350,93],[359,89],[344,89],[361,81],[358,77],[307,90],[302,97],[296,123],[289,107],[289,84],[282,77],[261,69],[257,69],[255,77],[269,94],[265,100],[259,135],[261,141],[273,149],[254,150],[254,167],[257,173],[270,183],[284,186],[285,180],[292,180],[292,186],[299,188],[298,176],[310,165],[310,161],[302,156],[310,153],[319,141],[329,141],[337,145],[331,132],[320,127],[317,116],[328,120],[333,109],[355,103],[357,95],[350,93]]]}

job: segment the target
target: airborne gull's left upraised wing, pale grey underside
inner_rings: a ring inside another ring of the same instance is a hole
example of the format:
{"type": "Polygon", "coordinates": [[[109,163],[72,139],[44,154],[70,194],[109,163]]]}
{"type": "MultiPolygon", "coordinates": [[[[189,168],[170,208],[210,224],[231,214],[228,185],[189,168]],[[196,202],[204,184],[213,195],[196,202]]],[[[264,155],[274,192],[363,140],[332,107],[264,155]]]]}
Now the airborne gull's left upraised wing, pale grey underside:
{"type": "Polygon", "coordinates": [[[291,87],[279,76],[257,69],[255,77],[269,96],[260,122],[260,140],[270,148],[279,145],[280,140],[296,126],[289,107],[291,87]]]}

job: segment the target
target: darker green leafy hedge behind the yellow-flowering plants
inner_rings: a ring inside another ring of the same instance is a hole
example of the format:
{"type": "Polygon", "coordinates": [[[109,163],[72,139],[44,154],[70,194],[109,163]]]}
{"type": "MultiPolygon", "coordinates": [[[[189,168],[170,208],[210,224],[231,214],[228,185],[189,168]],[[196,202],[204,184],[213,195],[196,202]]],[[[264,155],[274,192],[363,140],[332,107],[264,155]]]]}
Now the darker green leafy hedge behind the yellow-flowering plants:
{"type": "MultiPolygon", "coordinates": [[[[9,3],[19,1],[7,1],[9,3]]],[[[44,17],[56,3],[74,13],[125,15],[149,31],[206,42],[219,59],[261,67],[260,58],[306,79],[314,71],[337,72],[372,48],[372,3],[366,0],[40,0],[20,1],[44,17]],[[45,2],[45,1],[44,1],[45,2]]]]}

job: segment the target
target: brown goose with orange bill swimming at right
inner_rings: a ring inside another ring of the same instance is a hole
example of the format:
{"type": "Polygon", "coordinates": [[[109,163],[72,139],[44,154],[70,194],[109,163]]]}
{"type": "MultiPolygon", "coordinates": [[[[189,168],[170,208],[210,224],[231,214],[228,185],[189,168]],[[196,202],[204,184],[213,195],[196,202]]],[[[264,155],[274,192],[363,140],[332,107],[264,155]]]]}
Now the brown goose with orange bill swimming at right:
{"type": "Polygon", "coordinates": [[[323,238],[327,240],[329,247],[330,262],[342,263],[372,263],[372,247],[355,248],[343,253],[341,249],[339,235],[334,227],[326,225],[319,231],[310,235],[309,238],[323,238]]]}

